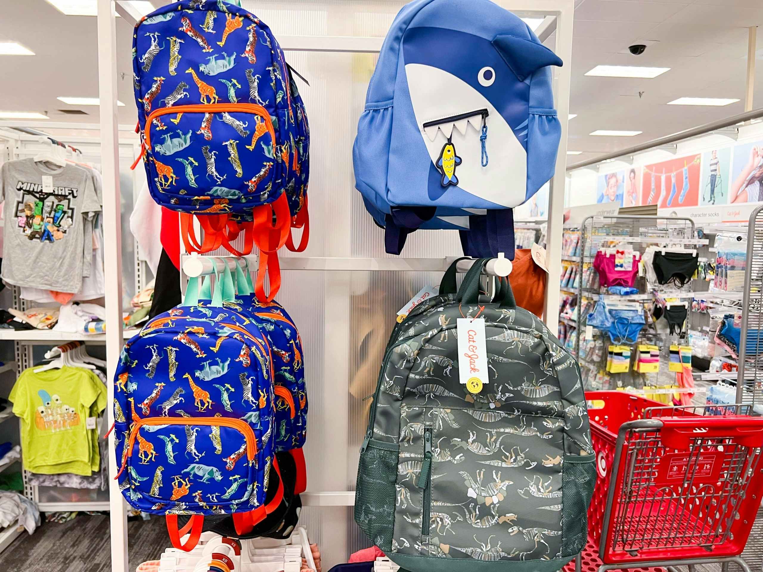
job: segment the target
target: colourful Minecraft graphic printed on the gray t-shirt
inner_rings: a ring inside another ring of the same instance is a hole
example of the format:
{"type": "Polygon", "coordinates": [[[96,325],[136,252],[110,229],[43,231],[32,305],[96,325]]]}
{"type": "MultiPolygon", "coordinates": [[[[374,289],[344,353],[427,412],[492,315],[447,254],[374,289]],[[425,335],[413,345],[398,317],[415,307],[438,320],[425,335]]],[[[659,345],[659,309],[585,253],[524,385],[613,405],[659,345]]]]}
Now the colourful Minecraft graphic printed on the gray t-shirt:
{"type": "Polygon", "coordinates": [[[18,228],[30,240],[55,243],[72,227],[75,208],[71,201],[79,189],[53,187],[53,192],[45,192],[42,186],[23,181],[16,184],[20,192],[16,201],[18,228]]]}

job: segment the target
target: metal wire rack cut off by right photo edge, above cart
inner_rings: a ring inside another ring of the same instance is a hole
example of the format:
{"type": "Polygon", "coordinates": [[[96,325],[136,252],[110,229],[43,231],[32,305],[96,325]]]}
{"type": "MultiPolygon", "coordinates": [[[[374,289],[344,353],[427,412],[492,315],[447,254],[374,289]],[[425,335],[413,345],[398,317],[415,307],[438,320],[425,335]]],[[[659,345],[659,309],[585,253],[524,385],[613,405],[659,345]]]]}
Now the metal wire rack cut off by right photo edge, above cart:
{"type": "Polygon", "coordinates": [[[750,216],[746,269],[736,401],[763,404],[763,206],[750,216]]]}

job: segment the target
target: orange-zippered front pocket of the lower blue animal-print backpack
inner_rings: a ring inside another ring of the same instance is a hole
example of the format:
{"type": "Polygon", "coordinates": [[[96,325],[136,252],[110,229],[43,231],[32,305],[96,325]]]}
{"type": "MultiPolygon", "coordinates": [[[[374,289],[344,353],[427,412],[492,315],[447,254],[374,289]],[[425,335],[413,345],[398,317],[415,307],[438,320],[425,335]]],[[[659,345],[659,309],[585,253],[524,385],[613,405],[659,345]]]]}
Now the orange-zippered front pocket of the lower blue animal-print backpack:
{"type": "Polygon", "coordinates": [[[154,510],[168,510],[175,503],[214,514],[216,509],[231,512],[224,507],[246,501],[255,508],[264,496],[264,491],[254,490],[257,453],[254,431],[242,419],[140,419],[130,431],[125,458],[130,499],[154,510]]]}

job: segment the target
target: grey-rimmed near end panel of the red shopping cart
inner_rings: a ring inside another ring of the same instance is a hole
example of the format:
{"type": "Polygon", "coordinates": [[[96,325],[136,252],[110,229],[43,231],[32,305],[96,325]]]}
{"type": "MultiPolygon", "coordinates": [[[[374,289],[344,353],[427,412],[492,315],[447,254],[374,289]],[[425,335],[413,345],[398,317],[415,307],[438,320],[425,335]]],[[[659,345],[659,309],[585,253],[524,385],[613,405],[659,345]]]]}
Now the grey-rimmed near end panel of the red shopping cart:
{"type": "Polygon", "coordinates": [[[678,416],[620,427],[600,558],[607,564],[742,554],[763,487],[763,418],[678,416]]]}

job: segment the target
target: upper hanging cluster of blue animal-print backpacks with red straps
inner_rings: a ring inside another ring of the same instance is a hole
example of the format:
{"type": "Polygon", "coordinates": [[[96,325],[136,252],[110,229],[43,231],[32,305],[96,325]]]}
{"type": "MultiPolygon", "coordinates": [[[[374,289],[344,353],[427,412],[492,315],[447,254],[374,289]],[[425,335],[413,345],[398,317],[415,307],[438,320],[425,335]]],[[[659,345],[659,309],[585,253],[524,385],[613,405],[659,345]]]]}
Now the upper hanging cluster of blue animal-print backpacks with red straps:
{"type": "Polygon", "coordinates": [[[173,2],[136,25],[133,68],[151,195],[179,211],[186,250],[304,250],[310,130],[270,28],[224,0],[173,2]]]}

